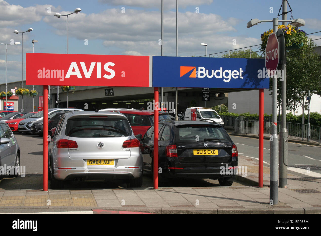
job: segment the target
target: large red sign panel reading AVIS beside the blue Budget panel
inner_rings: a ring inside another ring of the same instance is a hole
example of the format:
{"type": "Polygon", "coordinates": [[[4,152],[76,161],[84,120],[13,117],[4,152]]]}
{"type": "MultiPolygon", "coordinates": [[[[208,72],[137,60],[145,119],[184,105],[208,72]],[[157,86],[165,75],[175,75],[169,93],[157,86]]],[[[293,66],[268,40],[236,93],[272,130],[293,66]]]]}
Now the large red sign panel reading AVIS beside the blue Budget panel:
{"type": "Polygon", "coordinates": [[[27,85],[149,87],[149,56],[26,54],[27,85]]]}

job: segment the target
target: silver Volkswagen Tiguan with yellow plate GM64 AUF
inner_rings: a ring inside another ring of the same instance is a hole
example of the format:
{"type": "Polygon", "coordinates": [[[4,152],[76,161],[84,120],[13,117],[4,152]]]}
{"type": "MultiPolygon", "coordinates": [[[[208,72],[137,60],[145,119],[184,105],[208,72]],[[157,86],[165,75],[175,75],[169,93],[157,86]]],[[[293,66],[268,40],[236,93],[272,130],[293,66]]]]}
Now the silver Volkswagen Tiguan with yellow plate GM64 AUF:
{"type": "Polygon", "coordinates": [[[120,179],[128,187],[143,183],[140,143],[119,112],[69,111],[57,124],[48,144],[51,188],[65,180],[120,179]]]}

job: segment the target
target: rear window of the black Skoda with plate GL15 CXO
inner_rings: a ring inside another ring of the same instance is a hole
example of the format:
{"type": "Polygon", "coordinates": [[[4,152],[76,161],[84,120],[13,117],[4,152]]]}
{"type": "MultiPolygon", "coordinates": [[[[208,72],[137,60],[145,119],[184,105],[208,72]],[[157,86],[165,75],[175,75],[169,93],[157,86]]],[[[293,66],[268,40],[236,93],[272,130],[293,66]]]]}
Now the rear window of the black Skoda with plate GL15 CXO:
{"type": "Polygon", "coordinates": [[[175,127],[176,139],[179,142],[221,141],[231,142],[230,136],[223,127],[190,125],[175,127]]]}

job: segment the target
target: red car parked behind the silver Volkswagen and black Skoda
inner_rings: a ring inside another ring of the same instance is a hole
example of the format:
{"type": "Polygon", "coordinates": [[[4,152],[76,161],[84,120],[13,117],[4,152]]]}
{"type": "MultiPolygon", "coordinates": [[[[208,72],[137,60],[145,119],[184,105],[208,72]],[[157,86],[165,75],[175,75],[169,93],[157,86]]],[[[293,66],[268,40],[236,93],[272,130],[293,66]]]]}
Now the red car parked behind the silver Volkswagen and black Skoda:
{"type": "MultiPolygon", "coordinates": [[[[154,111],[151,110],[134,110],[134,109],[101,109],[108,111],[118,110],[120,113],[124,114],[130,126],[134,131],[134,135],[145,135],[147,129],[154,124],[154,111]]],[[[171,119],[168,113],[163,111],[158,113],[158,119],[171,119]]]]}

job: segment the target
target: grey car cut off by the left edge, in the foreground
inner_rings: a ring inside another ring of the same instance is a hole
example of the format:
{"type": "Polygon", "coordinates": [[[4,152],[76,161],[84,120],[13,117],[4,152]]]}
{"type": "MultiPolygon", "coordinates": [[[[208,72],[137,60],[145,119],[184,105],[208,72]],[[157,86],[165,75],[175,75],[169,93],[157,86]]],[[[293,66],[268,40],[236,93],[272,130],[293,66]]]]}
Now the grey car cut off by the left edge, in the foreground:
{"type": "Polygon", "coordinates": [[[8,124],[0,121],[0,179],[20,174],[20,147],[8,124]]]}

